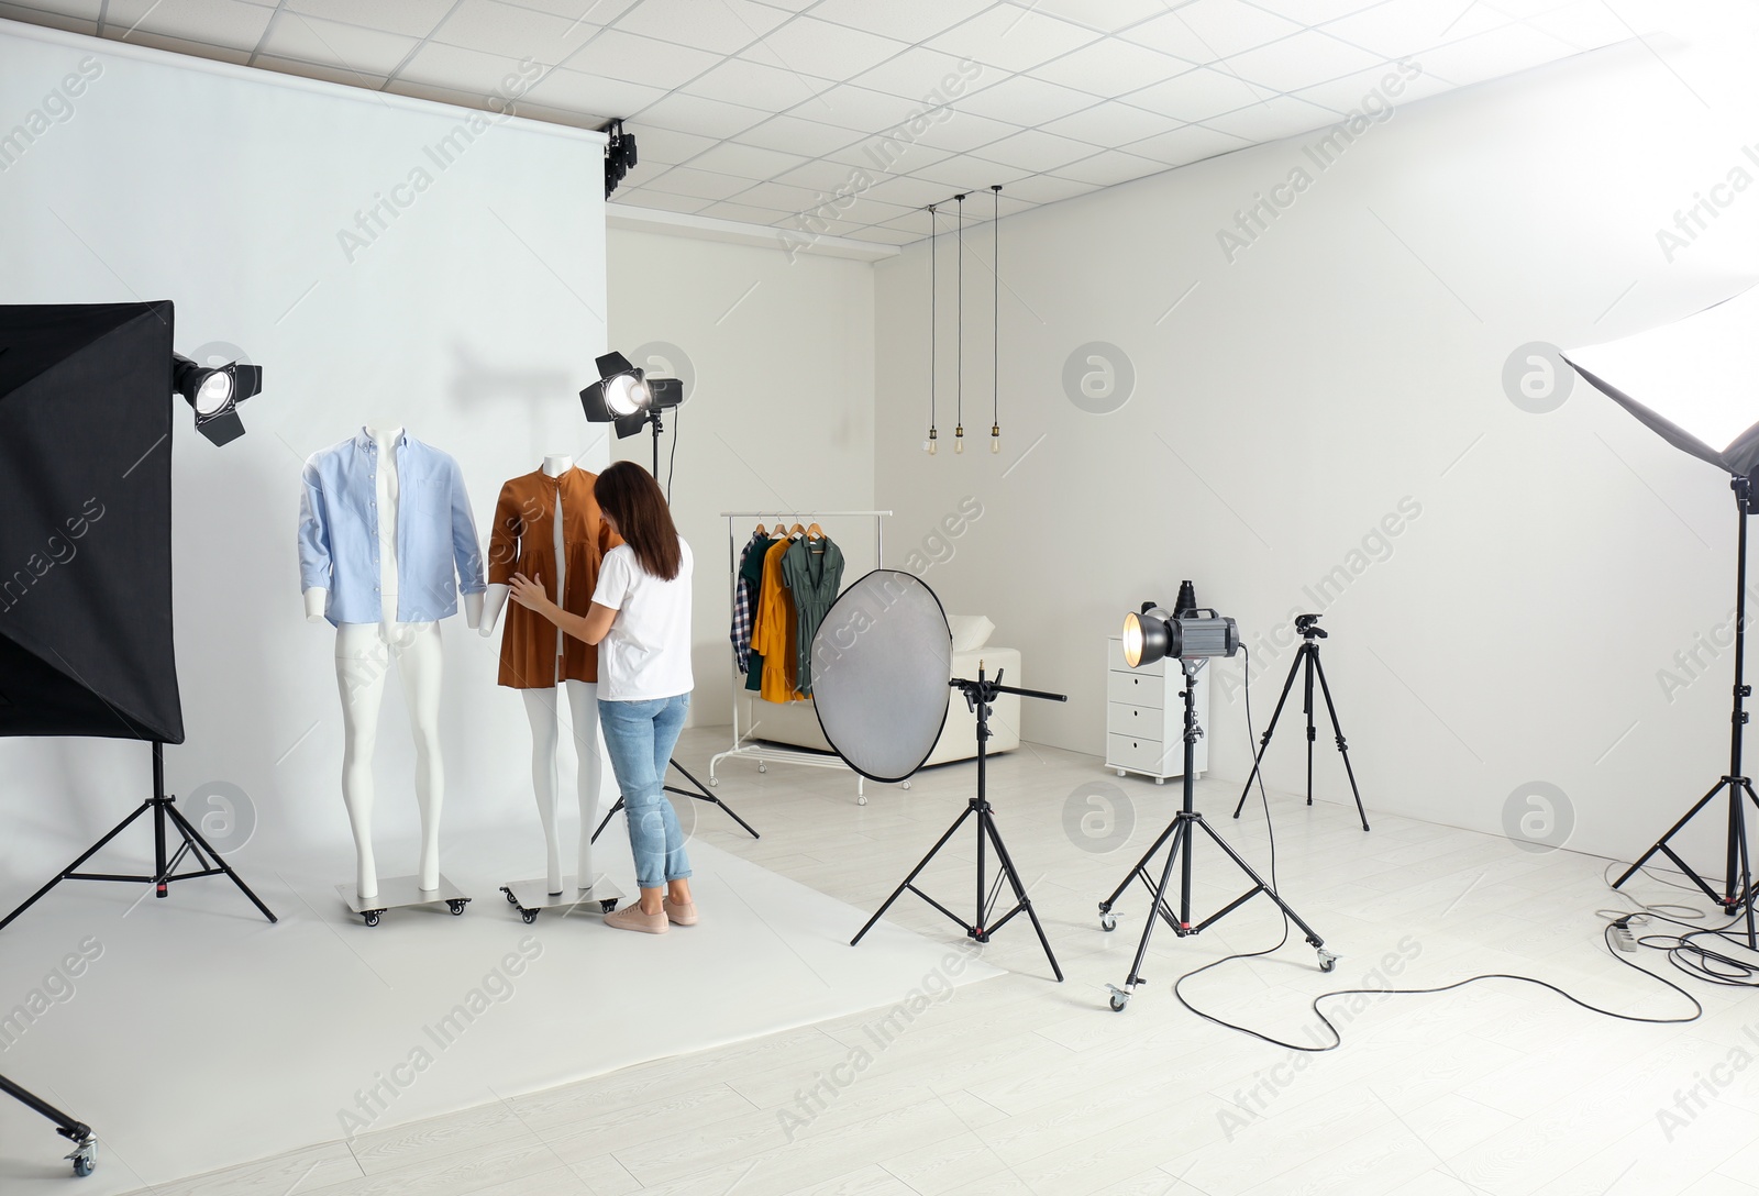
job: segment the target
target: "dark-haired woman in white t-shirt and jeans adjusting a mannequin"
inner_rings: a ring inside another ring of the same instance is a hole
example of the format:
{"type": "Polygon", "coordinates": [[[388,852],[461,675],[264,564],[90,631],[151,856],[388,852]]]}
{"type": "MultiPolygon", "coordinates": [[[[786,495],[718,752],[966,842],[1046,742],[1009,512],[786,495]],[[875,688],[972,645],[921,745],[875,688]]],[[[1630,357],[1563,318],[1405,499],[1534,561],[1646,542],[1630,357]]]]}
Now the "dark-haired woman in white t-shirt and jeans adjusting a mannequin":
{"type": "Polygon", "coordinates": [[[551,602],[538,579],[515,573],[512,596],[598,649],[598,723],[630,820],[642,899],[605,915],[619,930],[663,934],[697,923],[684,834],[665,795],[665,770],[690,711],[690,545],[672,526],[647,470],[617,461],[593,485],[623,543],[605,554],[584,614],[551,602]]]}

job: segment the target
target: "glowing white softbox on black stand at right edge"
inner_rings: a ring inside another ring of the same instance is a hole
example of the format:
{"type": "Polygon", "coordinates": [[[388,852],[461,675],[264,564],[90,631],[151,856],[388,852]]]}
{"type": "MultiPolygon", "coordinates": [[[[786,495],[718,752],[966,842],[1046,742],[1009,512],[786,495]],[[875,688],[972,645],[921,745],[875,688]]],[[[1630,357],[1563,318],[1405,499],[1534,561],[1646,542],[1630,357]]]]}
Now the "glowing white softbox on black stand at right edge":
{"type": "Polygon", "coordinates": [[[1729,770],[1676,821],[1668,834],[1613,881],[1620,888],[1655,855],[1666,855],[1719,909],[1734,916],[1745,909],[1747,946],[1759,950],[1754,920],[1754,869],[1747,835],[1747,802],[1759,806],[1754,783],[1741,772],[1747,728],[1747,515],[1759,510],[1759,288],[1748,288],[1697,315],[1648,329],[1618,341],[1566,350],[1567,361],[1594,389],[1618,403],[1675,448],[1729,473],[1734,492],[1734,686],[1729,714],[1729,770]],[[1722,892],[1673,848],[1717,797],[1727,797],[1722,892]]]}

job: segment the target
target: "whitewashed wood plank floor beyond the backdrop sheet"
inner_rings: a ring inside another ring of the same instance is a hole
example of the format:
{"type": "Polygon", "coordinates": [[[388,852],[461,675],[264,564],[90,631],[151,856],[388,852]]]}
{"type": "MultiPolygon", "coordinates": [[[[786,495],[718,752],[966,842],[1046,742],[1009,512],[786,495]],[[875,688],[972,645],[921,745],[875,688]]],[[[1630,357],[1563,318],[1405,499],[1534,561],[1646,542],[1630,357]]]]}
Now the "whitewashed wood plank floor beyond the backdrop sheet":
{"type": "MultiPolygon", "coordinates": [[[[725,730],[690,732],[679,758],[705,776],[723,742],[725,730]]],[[[772,765],[760,776],[737,760],[721,776],[716,791],[763,839],[698,804],[700,837],[865,911],[959,814],[974,770],[936,769],[911,791],[871,784],[865,807],[853,779],[834,772],[772,765]]],[[[1759,1066],[1747,1066],[1759,1059],[1759,1003],[1745,994],[1690,985],[1706,1010],[1690,1025],[1615,1022],[1514,981],[1333,999],[1325,1008],[1344,1024],[1342,1050],[1296,1055],[1210,1025],[1171,995],[1179,974],[1277,941],[1281,918],[1256,897],[1198,937],[1159,934],[1147,983],[1112,1013],[1105,985],[1129,969],[1145,899],[1138,890],[1120,902],[1113,934],[1099,929],[1096,902],[1166,825],[1177,786],[1025,746],[994,762],[990,795],[1066,983],[1052,981],[1031,925],[1017,920],[983,948],[1008,976],[929,1001],[908,1025],[874,1010],[153,1191],[1759,1196],[1759,1066]],[[1110,818],[1087,800],[1096,786],[1110,786],[1110,818]]],[[[1321,788],[1339,795],[1347,790],[1321,788]]],[[[1223,783],[1198,786],[1198,807],[1263,867],[1263,813],[1252,804],[1233,821],[1235,797],[1223,783]]],[[[1602,860],[1374,818],[1372,793],[1369,804],[1365,835],[1353,809],[1272,793],[1282,892],[1342,957],[1337,971],[1321,974],[1296,937],[1274,957],[1207,973],[1187,997],[1300,1043],[1317,1038],[1309,1001],[1321,992],[1474,973],[1543,976],[1625,1013],[1682,1013],[1676,994],[1602,946],[1595,909],[1618,904],[1602,860]]],[[[969,915],[974,858],[962,830],[920,883],[969,915]]],[[[1198,913],[1244,888],[1200,846],[1198,913]]],[[[1634,892],[1682,897],[1657,883],[1634,892]]],[[[702,915],[695,932],[712,934],[714,909],[702,915]]],[[[892,918],[962,941],[911,895],[892,918]]],[[[1641,959],[1662,966],[1653,952],[1641,959]]],[[[939,992],[938,978],[923,983],[939,992]]],[[[639,1004],[619,1017],[640,1017],[639,1004]]],[[[533,1027],[533,1050],[551,1032],[533,1027]]]]}

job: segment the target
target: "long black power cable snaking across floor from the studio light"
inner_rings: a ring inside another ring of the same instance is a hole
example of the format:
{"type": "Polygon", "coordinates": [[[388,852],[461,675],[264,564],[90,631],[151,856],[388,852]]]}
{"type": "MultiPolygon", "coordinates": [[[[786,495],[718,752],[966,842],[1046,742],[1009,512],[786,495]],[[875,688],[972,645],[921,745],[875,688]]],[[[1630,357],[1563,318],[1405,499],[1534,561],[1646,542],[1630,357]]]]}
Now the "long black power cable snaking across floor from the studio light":
{"type": "MultiPolygon", "coordinates": [[[[1249,746],[1251,746],[1251,751],[1252,751],[1252,758],[1256,760],[1258,758],[1258,737],[1252,733],[1252,660],[1247,654],[1247,649],[1245,649],[1244,644],[1240,645],[1240,654],[1247,658],[1245,660],[1245,733],[1247,733],[1247,740],[1249,740],[1249,746]]],[[[1259,802],[1265,807],[1265,828],[1266,828],[1266,832],[1270,835],[1270,888],[1272,888],[1272,892],[1277,892],[1277,832],[1275,832],[1275,827],[1274,827],[1274,823],[1270,820],[1270,795],[1265,791],[1265,777],[1263,777],[1261,770],[1259,770],[1259,776],[1258,776],[1258,797],[1259,797],[1259,802]]],[[[1666,918],[1666,915],[1653,913],[1650,908],[1645,908],[1639,913],[1629,915],[1629,918],[1636,918],[1636,916],[1655,916],[1655,918],[1662,918],[1662,920],[1668,920],[1668,922],[1673,920],[1673,918],[1666,918]]],[[[1733,925],[1733,922],[1729,925],[1733,925]]],[[[1601,934],[1602,941],[1606,943],[1606,952],[1613,959],[1617,959],[1620,964],[1624,964],[1625,967],[1629,967],[1632,971],[1638,971],[1638,973],[1643,973],[1650,980],[1655,980],[1655,981],[1659,981],[1662,985],[1668,985],[1669,988],[1673,988],[1675,992],[1678,992],[1682,997],[1685,997],[1687,1001],[1690,1001],[1692,1003],[1692,1015],[1690,1017],[1636,1017],[1632,1013],[1615,1013],[1613,1010],[1602,1010],[1597,1004],[1590,1004],[1590,1003],[1587,1003],[1587,1001],[1583,1001],[1580,997],[1574,997],[1569,992],[1566,992],[1564,988],[1558,988],[1557,985],[1553,985],[1553,983],[1550,983],[1546,980],[1539,980],[1536,976],[1520,976],[1520,974],[1513,974],[1513,973],[1483,973],[1483,974],[1478,974],[1478,976],[1467,976],[1467,978],[1456,980],[1456,981],[1453,981],[1449,985],[1439,985],[1439,987],[1434,987],[1434,988],[1333,988],[1330,992],[1321,992],[1317,997],[1312,999],[1312,1011],[1314,1011],[1314,1015],[1321,1022],[1325,1022],[1325,1027],[1332,1032],[1332,1043],[1328,1043],[1325,1046],[1302,1046],[1300,1043],[1282,1041],[1281,1038],[1275,1038],[1274,1034],[1263,1034],[1263,1032],[1254,1031],[1251,1027],[1237,1025],[1235,1022],[1230,1022],[1226,1018],[1215,1017],[1214,1013],[1205,1013],[1198,1006],[1191,1004],[1189,999],[1186,999],[1184,983],[1187,980],[1191,980],[1193,976],[1201,976],[1203,973],[1207,973],[1207,971],[1210,971],[1214,967],[1221,967],[1223,964],[1231,964],[1233,960],[1238,960],[1238,959],[1259,959],[1263,955],[1272,955],[1274,952],[1282,950],[1282,946],[1289,941],[1289,916],[1288,916],[1288,913],[1282,915],[1282,937],[1274,946],[1266,946],[1266,948],[1263,948],[1259,952],[1237,952],[1233,955],[1224,955],[1224,957],[1221,957],[1221,959],[1217,959],[1214,962],[1208,962],[1208,964],[1203,964],[1201,967],[1194,967],[1194,969],[1187,971],[1184,976],[1180,976],[1179,980],[1173,981],[1173,997],[1179,999],[1179,1004],[1186,1006],[1186,1010],[1189,1010],[1191,1013],[1198,1015],[1205,1022],[1212,1022],[1214,1025],[1221,1025],[1224,1029],[1237,1031],[1240,1034],[1247,1034],[1247,1036],[1256,1038],[1256,1039],[1259,1039],[1263,1043],[1270,1043],[1272,1046],[1282,1046],[1286,1050],[1298,1050],[1302,1054],[1312,1054],[1312,1055],[1317,1055],[1317,1054],[1323,1054],[1323,1052],[1328,1052],[1328,1050],[1337,1050],[1339,1046],[1344,1045],[1344,1036],[1339,1032],[1337,1024],[1333,1024],[1332,1018],[1326,1017],[1325,1010],[1319,1008],[1319,1003],[1326,1001],[1328,997],[1353,997],[1353,995],[1369,995],[1369,997],[1423,995],[1423,994],[1434,994],[1434,992],[1451,992],[1455,988],[1463,988],[1465,985],[1474,985],[1474,983],[1479,983],[1479,981],[1485,981],[1485,980],[1514,980],[1514,981],[1525,983],[1525,985],[1537,985],[1541,988],[1548,988],[1548,990],[1555,992],[1557,995],[1564,997],[1571,1004],[1576,1004],[1576,1006],[1581,1006],[1583,1010],[1588,1010],[1590,1013],[1601,1013],[1602,1017],[1618,1018],[1620,1022],[1643,1022],[1643,1024],[1648,1024],[1648,1025],[1676,1025],[1676,1024],[1683,1024],[1683,1022],[1696,1022],[1697,1018],[1701,1018],[1704,1015],[1704,1006],[1697,1003],[1697,997],[1694,997],[1690,992],[1687,992],[1680,985],[1673,983],[1666,976],[1657,976],[1648,967],[1641,967],[1641,966],[1634,964],[1632,960],[1624,959],[1624,955],[1613,946],[1611,936],[1613,936],[1615,929],[1618,929],[1618,922],[1608,923],[1608,927],[1601,934]]],[[[1673,937],[1678,939],[1678,943],[1675,946],[1671,946],[1671,948],[1659,948],[1659,950],[1668,950],[1669,960],[1675,964],[1675,967],[1678,967],[1680,971],[1687,973],[1689,976],[1696,974],[1701,980],[1712,980],[1712,983],[1754,983],[1754,985],[1759,985],[1759,964],[1743,966],[1743,967],[1750,967],[1748,973],[1747,973],[1750,976],[1750,980],[1745,980],[1745,981],[1741,981],[1741,980],[1720,980],[1720,978],[1713,978],[1712,974],[1692,971],[1694,960],[1715,960],[1717,964],[1722,964],[1722,966],[1734,964],[1734,960],[1731,960],[1729,957],[1724,957],[1724,955],[1720,955],[1717,952],[1710,952],[1708,948],[1701,948],[1701,946],[1692,944],[1692,939],[1696,939],[1697,936],[1722,934],[1724,930],[1727,930],[1727,927],[1720,927],[1720,929],[1715,929],[1715,930],[1699,929],[1699,930],[1694,930],[1694,932],[1685,934],[1685,936],[1673,936],[1673,937]]],[[[1652,936],[1652,937],[1660,937],[1660,936],[1652,936]]],[[[1648,944],[1648,943],[1645,943],[1645,944],[1648,944]]],[[[1650,946],[1653,946],[1653,944],[1650,944],[1650,946]]]]}

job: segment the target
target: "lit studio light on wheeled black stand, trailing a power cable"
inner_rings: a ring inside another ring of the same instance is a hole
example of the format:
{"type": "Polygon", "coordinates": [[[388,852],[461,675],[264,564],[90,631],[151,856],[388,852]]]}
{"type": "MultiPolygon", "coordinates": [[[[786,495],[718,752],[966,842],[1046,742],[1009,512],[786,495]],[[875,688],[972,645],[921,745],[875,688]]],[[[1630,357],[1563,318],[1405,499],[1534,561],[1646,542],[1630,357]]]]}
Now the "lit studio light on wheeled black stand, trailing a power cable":
{"type": "MultiPolygon", "coordinates": [[[[1180,600],[1187,594],[1180,589],[1180,600]]],[[[1193,600],[1194,602],[1194,600],[1193,600]]],[[[1179,605],[1184,605],[1180,602],[1179,605]]],[[[1184,769],[1184,806],[1173,816],[1173,821],[1161,832],[1161,835],[1149,846],[1149,850],[1136,860],[1136,865],[1129,871],[1124,881],[1112,890],[1112,895],[1099,902],[1099,929],[1115,930],[1117,916],[1112,908],[1117,906],[1119,897],[1129,888],[1131,881],[1140,879],[1152,897],[1149,906],[1149,916],[1142,925],[1142,941],[1136,944],[1136,959],[1129,966],[1129,976],[1124,980],[1124,987],[1106,985],[1112,992],[1112,1010],[1117,1013],[1124,1011],[1129,1004],[1131,994],[1136,985],[1142,983],[1142,960],[1149,955],[1149,939],[1154,936],[1154,923],[1166,920],[1166,925],[1173,929],[1173,934],[1186,937],[1208,929],[1212,923],[1226,918],[1230,913],[1244,906],[1247,901],[1258,893],[1265,893],[1277,908],[1282,909],[1288,918],[1302,929],[1307,936],[1309,946],[1319,953],[1319,971],[1332,971],[1337,966],[1337,957],[1325,950],[1325,939],[1321,939],[1312,927],[1302,922],[1300,915],[1289,908],[1277,892],[1252,871],[1238,851],[1228,846],[1214,827],[1203,821],[1203,814],[1196,813],[1193,807],[1193,795],[1196,788],[1196,744],[1198,735],[1203,728],[1198,726],[1198,709],[1196,709],[1196,679],[1198,670],[1210,658],[1230,658],[1240,651],[1240,630],[1235,621],[1219,616],[1214,610],[1196,609],[1186,610],[1182,614],[1168,614],[1159,605],[1152,602],[1142,603],[1140,610],[1133,610],[1124,616],[1124,660],[1131,668],[1142,668],[1143,665],[1152,665],[1161,660],[1177,660],[1180,670],[1184,672],[1184,688],[1179,696],[1186,700],[1186,718],[1184,718],[1184,742],[1186,742],[1186,769],[1184,769]],[[1203,922],[1191,922],[1191,855],[1193,855],[1193,827],[1207,834],[1217,848],[1233,860],[1245,876],[1252,881],[1242,895],[1235,897],[1231,902],[1223,906],[1219,911],[1212,913],[1203,922]],[[1166,862],[1161,865],[1159,879],[1149,871],[1149,864],[1154,860],[1156,853],[1166,846],[1166,862]],[[1173,881],[1173,862],[1180,864],[1179,874],[1179,909],[1177,913],[1168,904],[1168,888],[1173,881]]]]}

